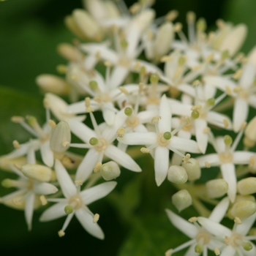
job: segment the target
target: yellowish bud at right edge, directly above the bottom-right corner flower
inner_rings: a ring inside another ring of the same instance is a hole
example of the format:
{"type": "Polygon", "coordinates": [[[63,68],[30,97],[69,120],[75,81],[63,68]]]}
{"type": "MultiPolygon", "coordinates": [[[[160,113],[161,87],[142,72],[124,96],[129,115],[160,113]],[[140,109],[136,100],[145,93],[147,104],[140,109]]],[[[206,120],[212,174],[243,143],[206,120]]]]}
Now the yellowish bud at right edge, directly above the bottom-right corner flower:
{"type": "Polygon", "coordinates": [[[233,217],[238,217],[239,219],[246,219],[247,217],[254,214],[256,211],[256,203],[244,200],[238,203],[234,203],[231,208],[230,214],[233,217]]]}

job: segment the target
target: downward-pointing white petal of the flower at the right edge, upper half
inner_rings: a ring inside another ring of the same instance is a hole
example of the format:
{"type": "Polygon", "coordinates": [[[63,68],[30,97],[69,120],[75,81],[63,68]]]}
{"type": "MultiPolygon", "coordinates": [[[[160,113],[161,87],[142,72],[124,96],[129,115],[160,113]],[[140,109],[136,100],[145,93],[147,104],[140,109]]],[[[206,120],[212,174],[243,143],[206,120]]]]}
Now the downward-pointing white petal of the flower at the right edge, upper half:
{"type": "Polygon", "coordinates": [[[246,121],[249,112],[249,105],[244,99],[236,99],[233,110],[233,129],[238,132],[241,125],[246,121]]]}

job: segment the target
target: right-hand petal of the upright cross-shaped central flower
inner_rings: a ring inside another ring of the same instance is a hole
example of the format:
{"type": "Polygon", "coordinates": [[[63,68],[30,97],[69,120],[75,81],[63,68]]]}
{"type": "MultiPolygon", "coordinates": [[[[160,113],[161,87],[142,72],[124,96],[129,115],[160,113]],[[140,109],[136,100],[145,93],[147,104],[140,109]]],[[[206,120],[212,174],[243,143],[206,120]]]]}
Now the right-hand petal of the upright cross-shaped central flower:
{"type": "Polygon", "coordinates": [[[195,140],[187,140],[184,138],[178,138],[177,136],[173,136],[170,139],[169,146],[190,153],[201,153],[195,140]]]}

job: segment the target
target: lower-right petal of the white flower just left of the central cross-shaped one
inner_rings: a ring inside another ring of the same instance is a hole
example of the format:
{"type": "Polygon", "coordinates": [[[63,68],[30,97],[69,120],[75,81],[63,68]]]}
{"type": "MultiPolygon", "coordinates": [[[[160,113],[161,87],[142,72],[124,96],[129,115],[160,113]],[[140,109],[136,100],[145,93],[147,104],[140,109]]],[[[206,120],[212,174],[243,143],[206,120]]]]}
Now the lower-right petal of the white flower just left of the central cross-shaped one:
{"type": "Polygon", "coordinates": [[[135,162],[129,154],[126,154],[121,149],[117,148],[116,146],[109,145],[108,148],[105,150],[106,157],[113,159],[119,165],[127,168],[128,170],[133,170],[135,172],[141,172],[140,166],[135,162]]]}

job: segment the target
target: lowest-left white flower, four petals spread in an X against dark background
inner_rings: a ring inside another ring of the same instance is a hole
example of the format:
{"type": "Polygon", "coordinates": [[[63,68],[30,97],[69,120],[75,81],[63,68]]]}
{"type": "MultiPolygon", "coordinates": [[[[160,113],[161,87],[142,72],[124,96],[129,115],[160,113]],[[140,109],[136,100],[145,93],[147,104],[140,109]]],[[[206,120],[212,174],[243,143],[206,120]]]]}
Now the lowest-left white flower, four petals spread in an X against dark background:
{"type": "Polygon", "coordinates": [[[108,195],[108,193],[116,187],[116,182],[105,182],[80,192],[80,184],[75,187],[67,170],[58,159],[56,159],[55,162],[55,170],[61,191],[65,198],[48,199],[48,201],[58,203],[44,211],[40,217],[40,221],[46,222],[68,214],[62,229],[59,231],[59,236],[64,236],[64,230],[66,230],[70,220],[75,215],[83,228],[90,233],[91,236],[104,239],[104,233],[96,223],[99,215],[94,215],[87,205],[108,195]]]}

